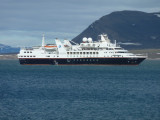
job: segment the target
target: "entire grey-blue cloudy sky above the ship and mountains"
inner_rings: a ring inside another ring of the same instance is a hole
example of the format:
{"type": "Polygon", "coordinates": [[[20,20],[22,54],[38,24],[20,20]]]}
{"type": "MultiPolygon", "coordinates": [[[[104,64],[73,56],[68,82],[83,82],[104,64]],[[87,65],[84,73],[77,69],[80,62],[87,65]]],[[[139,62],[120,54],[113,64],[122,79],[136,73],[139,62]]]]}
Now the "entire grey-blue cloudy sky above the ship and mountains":
{"type": "Polygon", "coordinates": [[[0,44],[14,47],[72,39],[114,11],[160,12],[160,0],[0,0],[0,44]]]}

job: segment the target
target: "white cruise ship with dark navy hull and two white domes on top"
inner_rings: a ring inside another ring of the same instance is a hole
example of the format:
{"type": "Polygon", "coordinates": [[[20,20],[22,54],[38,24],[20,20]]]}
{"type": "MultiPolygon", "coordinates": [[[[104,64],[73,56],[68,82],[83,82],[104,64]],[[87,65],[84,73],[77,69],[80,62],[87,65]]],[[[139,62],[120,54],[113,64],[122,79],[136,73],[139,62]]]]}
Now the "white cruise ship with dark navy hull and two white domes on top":
{"type": "Polygon", "coordinates": [[[55,39],[55,44],[45,44],[32,48],[22,48],[18,54],[22,65],[138,65],[147,58],[123,49],[106,34],[97,41],[84,37],[77,44],[69,40],[55,39]]]}

